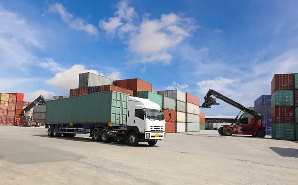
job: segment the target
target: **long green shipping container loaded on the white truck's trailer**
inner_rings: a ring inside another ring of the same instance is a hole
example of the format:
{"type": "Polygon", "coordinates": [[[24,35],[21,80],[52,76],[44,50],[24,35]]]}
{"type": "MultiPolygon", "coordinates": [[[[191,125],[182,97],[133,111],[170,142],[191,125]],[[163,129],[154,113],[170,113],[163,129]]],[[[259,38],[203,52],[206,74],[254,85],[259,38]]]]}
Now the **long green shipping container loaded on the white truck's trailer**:
{"type": "Polygon", "coordinates": [[[109,91],[48,101],[45,123],[125,125],[129,96],[109,91]]]}

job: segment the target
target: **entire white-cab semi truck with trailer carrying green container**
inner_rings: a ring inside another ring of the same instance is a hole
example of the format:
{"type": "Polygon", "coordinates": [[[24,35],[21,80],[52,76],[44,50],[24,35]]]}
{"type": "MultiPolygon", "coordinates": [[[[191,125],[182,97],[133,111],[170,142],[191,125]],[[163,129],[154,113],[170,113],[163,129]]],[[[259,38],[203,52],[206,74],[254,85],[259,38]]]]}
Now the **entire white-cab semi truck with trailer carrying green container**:
{"type": "Polygon", "coordinates": [[[109,91],[49,101],[48,136],[90,134],[93,141],[155,145],[165,138],[165,119],[157,103],[109,91]]]}

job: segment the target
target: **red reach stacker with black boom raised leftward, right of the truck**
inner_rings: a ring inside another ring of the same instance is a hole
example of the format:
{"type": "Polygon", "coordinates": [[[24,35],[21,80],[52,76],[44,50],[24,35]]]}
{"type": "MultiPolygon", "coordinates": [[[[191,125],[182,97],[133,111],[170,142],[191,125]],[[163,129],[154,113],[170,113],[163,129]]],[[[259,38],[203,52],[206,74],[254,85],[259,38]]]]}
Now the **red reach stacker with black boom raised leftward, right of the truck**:
{"type": "Polygon", "coordinates": [[[231,125],[223,125],[218,129],[220,135],[231,136],[232,134],[242,134],[242,135],[252,135],[254,137],[265,137],[265,126],[259,124],[259,120],[262,119],[262,115],[255,112],[248,107],[245,107],[234,100],[216,92],[215,90],[209,89],[207,95],[204,97],[205,102],[202,104],[202,108],[211,108],[212,105],[220,105],[216,102],[215,98],[218,98],[238,109],[240,109],[240,113],[236,116],[235,120],[231,125]],[[242,113],[242,114],[241,114],[242,113]],[[250,123],[242,123],[242,117],[244,113],[248,113],[253,116],[250,123]],[[241,114],[241,115],[240,115],[241,114]],[[240,116],[239,116],[240,115],[240,116]]]}

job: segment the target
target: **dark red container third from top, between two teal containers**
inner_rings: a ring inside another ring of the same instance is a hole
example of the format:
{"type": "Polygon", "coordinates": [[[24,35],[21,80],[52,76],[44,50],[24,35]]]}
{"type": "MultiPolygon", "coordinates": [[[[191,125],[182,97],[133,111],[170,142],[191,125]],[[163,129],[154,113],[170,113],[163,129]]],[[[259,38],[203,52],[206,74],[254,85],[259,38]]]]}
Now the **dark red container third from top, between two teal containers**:
{"type": "Polygon", "coordinates": [[[271,110],[272,123],[295,123],[294,107],[274,106],[271,110]]]}

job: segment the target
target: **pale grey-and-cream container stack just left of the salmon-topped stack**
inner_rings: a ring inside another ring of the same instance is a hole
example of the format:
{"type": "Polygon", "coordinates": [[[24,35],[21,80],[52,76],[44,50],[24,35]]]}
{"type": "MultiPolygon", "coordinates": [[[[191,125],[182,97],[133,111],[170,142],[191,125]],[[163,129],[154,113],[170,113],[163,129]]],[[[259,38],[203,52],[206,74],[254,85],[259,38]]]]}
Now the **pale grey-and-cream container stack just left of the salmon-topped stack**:
{"type": "Polygon", "coordinates": [[[179,90],[158,91],[158,94],[176,101],[175,132],[186,132],[186,94],[179,90]]]}

